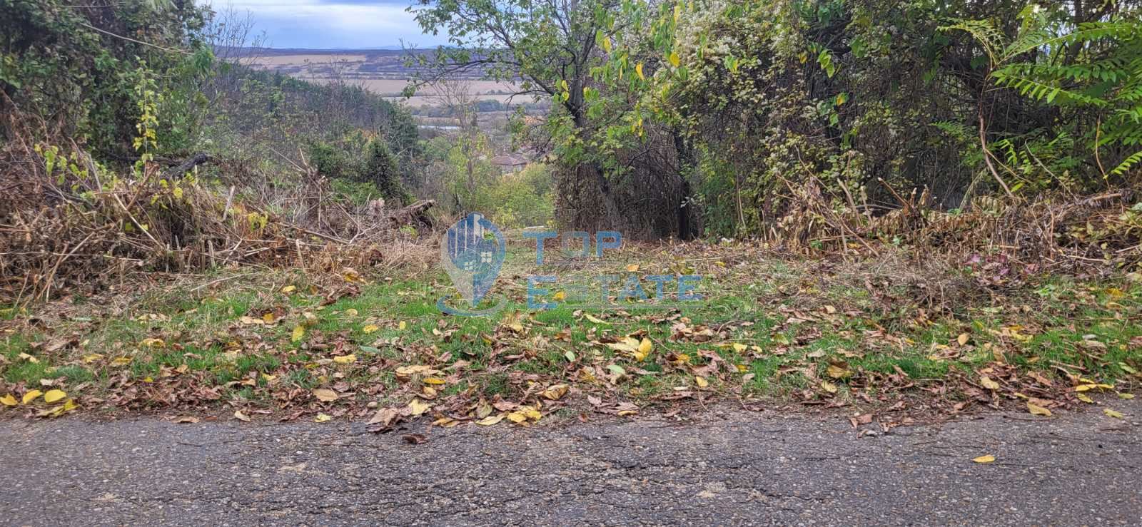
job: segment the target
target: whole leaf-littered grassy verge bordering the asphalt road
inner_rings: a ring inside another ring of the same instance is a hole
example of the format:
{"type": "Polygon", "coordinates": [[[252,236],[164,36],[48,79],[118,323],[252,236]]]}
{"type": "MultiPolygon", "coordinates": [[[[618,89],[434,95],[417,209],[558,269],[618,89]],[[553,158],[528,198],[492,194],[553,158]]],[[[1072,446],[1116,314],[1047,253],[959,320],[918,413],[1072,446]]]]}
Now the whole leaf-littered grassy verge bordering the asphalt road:
{"type": "Polygon", "coordinates": [[[1052,408],[1091,391],[1129,397],[1142,370],[1136,275],[761,254],[632,246],[537,268],[532,249],[512,245],[485,301],[506,307],[490,317],[442,315],[436,302],[453,289],[431,268],[320,281],[220,274],[137,293],[121,313],[82,299],[9,309],[0,396],[11,395],[9,415],[372,416],[379,427],[421,414],[442,425],[629,415],[719,398],[855,406],[898,422],[1005,399],[1052,408]],[[528,308],[534,274],[558,276],[542,285],[563,306],[528,308]],[[637,277],[651,297],[646,276],[698,274],[703,299],[580,307],[597,303],[590,277],[608,274],[637,277]],[[66,396],[24,404],[33,390],[66,396]]]}

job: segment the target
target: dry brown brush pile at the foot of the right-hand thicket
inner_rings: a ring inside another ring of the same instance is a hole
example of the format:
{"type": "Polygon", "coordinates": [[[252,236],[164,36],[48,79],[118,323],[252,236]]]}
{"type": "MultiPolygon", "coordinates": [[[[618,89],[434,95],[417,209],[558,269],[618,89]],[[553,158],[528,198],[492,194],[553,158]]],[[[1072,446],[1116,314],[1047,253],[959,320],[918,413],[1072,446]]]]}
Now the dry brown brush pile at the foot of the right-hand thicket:
{"type": "Polygon", "coordinates": [[[1121,267],[1142,262],[1142,193],[1133,188],[1076,196],[1042,193],[1015,203],[978,197],[965,211],[936,209],[926,190],[882,216],[851,197],[833,200],[818,181],[790,186],[793,209],[766,235],[797,251],[877,252],[879,244],[916,248],[917,259],[1003,254],[1039,269],[1121,267]]]}

